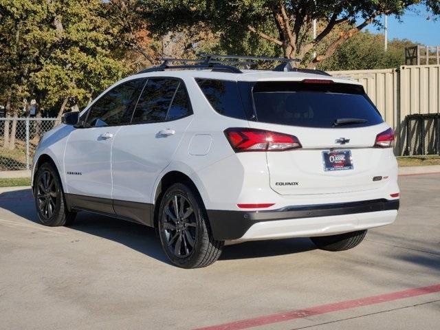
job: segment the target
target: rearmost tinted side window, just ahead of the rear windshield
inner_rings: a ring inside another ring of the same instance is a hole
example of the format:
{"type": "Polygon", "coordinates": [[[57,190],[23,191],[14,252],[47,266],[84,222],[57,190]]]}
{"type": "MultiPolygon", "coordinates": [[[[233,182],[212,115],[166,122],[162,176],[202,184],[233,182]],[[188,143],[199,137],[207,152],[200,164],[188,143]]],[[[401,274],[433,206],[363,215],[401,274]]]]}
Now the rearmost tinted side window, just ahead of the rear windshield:
{"type": "Polygon", "coordinates": [[[246,119],[236,82],[212,79],[196,81],[215,111],[228,117],[246,119]]]}

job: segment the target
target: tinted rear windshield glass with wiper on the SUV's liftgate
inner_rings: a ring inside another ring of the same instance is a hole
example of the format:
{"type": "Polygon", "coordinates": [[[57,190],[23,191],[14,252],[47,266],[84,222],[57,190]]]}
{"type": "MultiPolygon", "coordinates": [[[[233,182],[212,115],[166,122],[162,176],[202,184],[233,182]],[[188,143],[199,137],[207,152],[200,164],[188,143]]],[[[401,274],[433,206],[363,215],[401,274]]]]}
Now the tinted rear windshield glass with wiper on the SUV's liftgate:
{"type": "Polygon", "coordinates": [[[259,122],[320,128],[353,128],[383,122],[358,85],[256,83],[253,97],[259,122]]]}

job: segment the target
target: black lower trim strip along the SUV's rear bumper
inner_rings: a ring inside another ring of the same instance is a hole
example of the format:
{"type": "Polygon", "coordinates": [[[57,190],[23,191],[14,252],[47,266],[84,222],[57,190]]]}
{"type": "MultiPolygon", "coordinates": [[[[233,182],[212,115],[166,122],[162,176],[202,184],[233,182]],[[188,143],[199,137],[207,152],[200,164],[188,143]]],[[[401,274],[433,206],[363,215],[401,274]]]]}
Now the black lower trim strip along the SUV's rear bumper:
{"type": "Polygon", "coordinates": [[[208,210],[208,218],[214,239],[225,241],[239,239],[255,223],[285,219],[329,217],[332,215],[355,214],[399,210],[399,199],[373,199],[349,203],[320,204],[311,206],[288,206],[267,211],[208,210]]]}

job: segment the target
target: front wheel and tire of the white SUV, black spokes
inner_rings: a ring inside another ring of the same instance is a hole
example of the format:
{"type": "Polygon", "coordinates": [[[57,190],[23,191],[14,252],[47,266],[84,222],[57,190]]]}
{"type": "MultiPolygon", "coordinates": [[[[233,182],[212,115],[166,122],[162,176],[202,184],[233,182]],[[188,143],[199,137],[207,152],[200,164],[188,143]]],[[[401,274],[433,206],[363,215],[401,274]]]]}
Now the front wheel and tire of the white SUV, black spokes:
{"type": "Polygon", "coordinates": [[[43,164],[36,172],[34,199],[36,213],[43,225],[56,227],[74,222],[76,212],[67,210],[61,179],[50,163],[43,164]]]}

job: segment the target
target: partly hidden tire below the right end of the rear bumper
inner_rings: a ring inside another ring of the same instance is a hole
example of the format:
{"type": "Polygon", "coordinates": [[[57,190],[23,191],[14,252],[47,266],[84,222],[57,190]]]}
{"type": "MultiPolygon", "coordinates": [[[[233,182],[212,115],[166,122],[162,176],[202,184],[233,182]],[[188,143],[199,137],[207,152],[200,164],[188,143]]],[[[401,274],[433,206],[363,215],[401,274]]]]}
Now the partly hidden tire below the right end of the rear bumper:
{"type": "Polygon", "coordinates": [[[311,237],[311,241],[320,249],[326,251],[344,251],[353,249],[364,240],[366,230],[346,232],[332,236],[311,237]]]}

